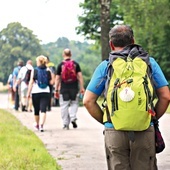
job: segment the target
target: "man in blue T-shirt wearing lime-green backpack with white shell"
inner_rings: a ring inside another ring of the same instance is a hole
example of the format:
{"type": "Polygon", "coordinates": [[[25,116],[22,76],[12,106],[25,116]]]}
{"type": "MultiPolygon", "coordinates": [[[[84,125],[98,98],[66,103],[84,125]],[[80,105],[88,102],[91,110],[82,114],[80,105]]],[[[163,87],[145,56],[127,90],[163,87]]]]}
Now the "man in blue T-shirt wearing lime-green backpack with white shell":
{"type": "Polygon", "coordinates": [[[168,82],[154,58],[134,44],[129,26],[114,26],[109,37],[109,58],[93,73],[83,104],[94,119],[104,124],[109,170],[156,170],[152,118],[159,119],[166,112],[168,82]],[[99,96],[103,96],[103,102],[98,101],[99,96]]]}

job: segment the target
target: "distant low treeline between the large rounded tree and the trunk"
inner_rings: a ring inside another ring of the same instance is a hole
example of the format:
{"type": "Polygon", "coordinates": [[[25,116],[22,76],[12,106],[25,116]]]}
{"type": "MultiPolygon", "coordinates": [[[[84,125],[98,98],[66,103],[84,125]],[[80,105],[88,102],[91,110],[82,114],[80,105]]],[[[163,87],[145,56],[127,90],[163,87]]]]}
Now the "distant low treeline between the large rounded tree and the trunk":
{"type": "Polygon", "coordinates": [[[70,48],[72,59],[77,61],[82,69],[85,87],[87,86],[96,66],[101,62],[100,49],[96,49],[93,44],[79,41],[69,41],[67,38],[59,38],[54,43],[48,43],[42,46],[48,52],[50,60],[57,65],[63,60],[62,53],[64,48],[70,48]]]}

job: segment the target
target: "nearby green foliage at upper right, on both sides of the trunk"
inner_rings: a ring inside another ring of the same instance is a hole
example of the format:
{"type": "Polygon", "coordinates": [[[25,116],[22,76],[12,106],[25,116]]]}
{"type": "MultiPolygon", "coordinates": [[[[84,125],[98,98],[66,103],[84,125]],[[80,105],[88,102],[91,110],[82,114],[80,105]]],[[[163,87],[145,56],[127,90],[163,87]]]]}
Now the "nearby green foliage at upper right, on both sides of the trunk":
{"type": "MultiPolygon", "coordinates": [[[[101,3],[101,0],[85,0],[80,4],[84,13],[79,16],[78,34],[85,35],[88,39],[101,40],[102,25],[99,22],[101,3]]],[[[142,45],[151,56],[154,56],[170,81],[170,1],[112,0],[110,5],[110,22],[108,22],[110,28],[121,21],[132,26],[136,43],[142,45]]],[[[104,44],[102,48],[105,46],[107,44],[104,44]]]]}

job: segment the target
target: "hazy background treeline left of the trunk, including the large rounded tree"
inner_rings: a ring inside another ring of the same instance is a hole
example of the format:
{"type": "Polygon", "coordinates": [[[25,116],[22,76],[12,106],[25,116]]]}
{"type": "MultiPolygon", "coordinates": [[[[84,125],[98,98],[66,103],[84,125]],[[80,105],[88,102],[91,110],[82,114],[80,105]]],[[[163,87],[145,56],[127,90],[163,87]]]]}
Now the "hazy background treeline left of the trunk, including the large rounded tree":
{"type": "Polygon", "coordinates": [[[26,63],[28,59],[32,59],[35,66],[35,59],[40,54],[49,56],[57,67],[63,60],[62,52],[65,48],[70,48],[72,58],[79,62],[86,86],[94,69],[101,62],[100,49],[87,42],[69,41],[66,37],[40,45],[40,41],[31,30],[20,23],[10,23],[0,32],[0,82],[6,84],[18,60],[26,63]]]}

